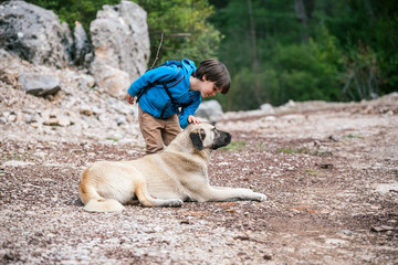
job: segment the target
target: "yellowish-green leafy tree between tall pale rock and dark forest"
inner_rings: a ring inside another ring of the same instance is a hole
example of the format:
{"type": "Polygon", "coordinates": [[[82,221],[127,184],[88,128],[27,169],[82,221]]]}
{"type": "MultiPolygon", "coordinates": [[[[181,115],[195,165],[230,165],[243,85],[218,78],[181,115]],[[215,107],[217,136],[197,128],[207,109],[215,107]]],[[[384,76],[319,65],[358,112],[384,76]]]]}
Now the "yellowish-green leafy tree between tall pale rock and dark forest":
{"type": "Polygon", "coordinates": [[[207,22],[213,8],[207,0],[137,0],[148,12],[151,60],[156,56],[161,32],[164,43],[158,64],[188,57],[197,63],[216,57],[221,34],[207,22]]]}

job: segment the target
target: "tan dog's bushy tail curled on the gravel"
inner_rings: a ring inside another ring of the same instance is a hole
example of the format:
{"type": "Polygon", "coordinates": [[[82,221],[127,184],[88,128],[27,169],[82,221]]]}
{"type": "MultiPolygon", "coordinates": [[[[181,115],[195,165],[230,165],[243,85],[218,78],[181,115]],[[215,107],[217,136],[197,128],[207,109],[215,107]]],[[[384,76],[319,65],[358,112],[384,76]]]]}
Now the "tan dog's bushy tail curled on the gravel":
{"type": "Polygon", "coordinates": [[[91,186],[86,184],[86,174],[90,167],[83,171],[82,180],[78,183],[78,193],[82,202],[85,204],[84,210],[88,212],[121,212],[124,210],[122,203],[115,199],[105,199],[91,186]]]}

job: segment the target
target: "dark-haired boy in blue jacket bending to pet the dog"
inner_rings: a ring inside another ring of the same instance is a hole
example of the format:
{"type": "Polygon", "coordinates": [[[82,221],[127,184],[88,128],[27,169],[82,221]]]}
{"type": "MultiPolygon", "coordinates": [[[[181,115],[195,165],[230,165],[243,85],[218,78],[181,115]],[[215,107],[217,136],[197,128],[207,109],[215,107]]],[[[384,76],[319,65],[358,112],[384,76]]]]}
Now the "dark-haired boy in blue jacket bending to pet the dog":
{"type": "Polygon", "coordinates": [[[139,103],[139,128],[146,152],[168,146],[188,124],[200,124],[195,117],[201,97],[227,94],[231,77],[221,62],[210,59],[198,68],[192,61],[168,61],[136,80],[127,93],[127,102],[139,103]]]}

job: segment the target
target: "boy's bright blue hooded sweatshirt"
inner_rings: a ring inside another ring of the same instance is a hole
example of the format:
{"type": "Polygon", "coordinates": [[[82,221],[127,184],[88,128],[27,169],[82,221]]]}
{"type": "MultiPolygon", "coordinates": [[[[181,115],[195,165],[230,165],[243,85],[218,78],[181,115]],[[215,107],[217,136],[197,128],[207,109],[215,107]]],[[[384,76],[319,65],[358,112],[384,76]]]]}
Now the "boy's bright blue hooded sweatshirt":
{"type": "Polygon", "coordinates": [[[189,77],[195,71],[195,63],[188,59],[167,61],[138,77],[127,92],[133,97],[138,96],[139,107],[155,118],[168,118],[179,113],[179,124],[185,129],[188,116],[195,115],[201,102],[200,92],[189,91],[189,77]],[[171,98],[164,82],[169,87],[171,98]],[[145,87],[150,88],[145,91],[145,87]]]}

